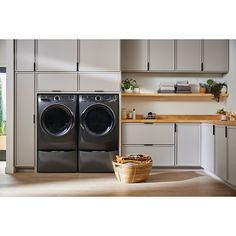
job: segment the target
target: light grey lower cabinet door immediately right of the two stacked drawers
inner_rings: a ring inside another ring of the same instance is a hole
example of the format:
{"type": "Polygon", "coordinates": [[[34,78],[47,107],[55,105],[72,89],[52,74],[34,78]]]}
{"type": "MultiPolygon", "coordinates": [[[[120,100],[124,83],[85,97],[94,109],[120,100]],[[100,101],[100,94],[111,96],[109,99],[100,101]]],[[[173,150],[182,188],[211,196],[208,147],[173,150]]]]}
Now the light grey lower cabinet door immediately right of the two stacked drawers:
{"type": "Polygon", "coordinates": [[[200,124],[177,124],[177,165],[200,166],[200,124]]]}

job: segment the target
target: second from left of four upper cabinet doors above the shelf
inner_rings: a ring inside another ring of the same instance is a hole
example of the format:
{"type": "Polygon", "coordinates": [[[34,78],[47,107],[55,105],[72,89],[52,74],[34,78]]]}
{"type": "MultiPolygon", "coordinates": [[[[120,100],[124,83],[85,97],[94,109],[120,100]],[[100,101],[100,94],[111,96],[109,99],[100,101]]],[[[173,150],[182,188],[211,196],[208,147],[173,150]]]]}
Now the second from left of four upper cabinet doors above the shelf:
{"type": "Polygon", "coordinates": [[[150,71],[174,70],[174,40],[150,40],[150,71]]]}

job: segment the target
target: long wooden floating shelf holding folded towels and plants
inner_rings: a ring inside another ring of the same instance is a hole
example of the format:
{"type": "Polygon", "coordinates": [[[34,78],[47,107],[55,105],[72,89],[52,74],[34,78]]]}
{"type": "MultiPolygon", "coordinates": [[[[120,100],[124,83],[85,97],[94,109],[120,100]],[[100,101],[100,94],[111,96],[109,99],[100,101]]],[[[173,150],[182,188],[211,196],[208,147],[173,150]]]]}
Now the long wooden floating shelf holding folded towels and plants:
{"type": "MultiPolygon", "coordinates": [[[[228,93],[224,93],[220,96],[220,100],[225,100],[229,96],[228,93]]],[[[171,101],[213,101],[214,96],[210,93],[122,93],[122,97],[127,98],[151,98],[155,100],[171,101]]]]}

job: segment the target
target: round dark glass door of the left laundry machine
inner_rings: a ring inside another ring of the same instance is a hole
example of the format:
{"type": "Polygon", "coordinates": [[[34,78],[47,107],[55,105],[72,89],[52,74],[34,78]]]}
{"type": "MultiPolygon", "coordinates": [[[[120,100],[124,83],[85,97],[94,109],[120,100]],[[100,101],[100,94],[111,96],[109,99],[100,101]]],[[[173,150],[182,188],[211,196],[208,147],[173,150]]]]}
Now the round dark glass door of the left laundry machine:
{"type": "Polygon", "coordinates": [[[74,124],[71,111],[63,105],[52,105],[43,111],[41,126],[45,132],[53,136],[67,134],[74,124]]]}

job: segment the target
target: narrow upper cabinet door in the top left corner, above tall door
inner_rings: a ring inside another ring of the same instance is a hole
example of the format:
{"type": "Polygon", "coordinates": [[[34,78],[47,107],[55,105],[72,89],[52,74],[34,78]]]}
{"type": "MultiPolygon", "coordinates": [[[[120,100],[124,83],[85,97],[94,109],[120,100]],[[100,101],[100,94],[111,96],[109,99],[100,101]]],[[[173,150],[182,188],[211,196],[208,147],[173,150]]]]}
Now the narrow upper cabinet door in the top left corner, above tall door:
{"type": "Polygon", "coordinates": [[[16,40],[15,70],[34,71],[34,40],[16,40]]]}

